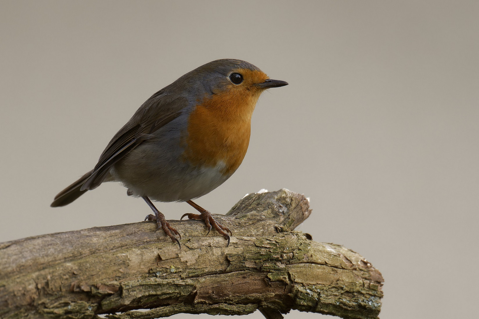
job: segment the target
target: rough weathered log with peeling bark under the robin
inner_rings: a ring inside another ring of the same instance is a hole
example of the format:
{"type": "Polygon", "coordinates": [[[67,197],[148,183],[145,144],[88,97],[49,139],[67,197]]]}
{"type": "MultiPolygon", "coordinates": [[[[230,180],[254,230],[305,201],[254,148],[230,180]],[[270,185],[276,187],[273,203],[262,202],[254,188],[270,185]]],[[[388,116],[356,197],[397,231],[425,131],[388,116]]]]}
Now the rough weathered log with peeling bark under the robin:
{"type": "Polygon", "coordinates": [[[151,222],[0,243],[0,317],[149,319],[259,309],[281,318],[298,309],[377,318],[381,273],[351,250],[293,231],[310,213],[307,198],[282,189],[250,194],[215,215],[233,232],[228,247],[194,220],[170,220],[181,250],[151,222]]]}

